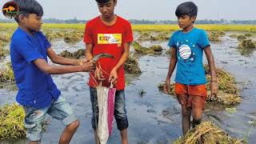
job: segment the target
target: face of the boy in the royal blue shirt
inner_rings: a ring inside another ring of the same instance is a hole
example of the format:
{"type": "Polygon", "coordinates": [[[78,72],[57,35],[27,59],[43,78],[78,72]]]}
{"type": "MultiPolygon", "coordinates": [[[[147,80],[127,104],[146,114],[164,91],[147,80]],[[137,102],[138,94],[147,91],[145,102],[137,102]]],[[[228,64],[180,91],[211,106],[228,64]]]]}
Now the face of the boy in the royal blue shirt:
{"type": "Polygon", "coordinates": [[[37,14],[30,14],[28,17],[20,15],[20,23],[30,31],[38,32],[42,26],[42,17],[37,14]]]}

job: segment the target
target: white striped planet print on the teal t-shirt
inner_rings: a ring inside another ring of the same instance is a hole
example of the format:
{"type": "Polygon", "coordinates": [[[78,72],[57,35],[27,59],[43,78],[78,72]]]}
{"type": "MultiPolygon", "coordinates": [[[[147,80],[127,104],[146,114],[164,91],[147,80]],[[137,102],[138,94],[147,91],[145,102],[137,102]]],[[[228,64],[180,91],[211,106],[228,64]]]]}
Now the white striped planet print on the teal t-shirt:
{"type": "Polygon", "coordinates": [[[186,42],[177,42],[178,47],[178,59],[182,59],[184,62],[194,62],[194,52],[193,48],[195,47],[192,42],[189,43],[189,40],[186,40],[186,42]]]}

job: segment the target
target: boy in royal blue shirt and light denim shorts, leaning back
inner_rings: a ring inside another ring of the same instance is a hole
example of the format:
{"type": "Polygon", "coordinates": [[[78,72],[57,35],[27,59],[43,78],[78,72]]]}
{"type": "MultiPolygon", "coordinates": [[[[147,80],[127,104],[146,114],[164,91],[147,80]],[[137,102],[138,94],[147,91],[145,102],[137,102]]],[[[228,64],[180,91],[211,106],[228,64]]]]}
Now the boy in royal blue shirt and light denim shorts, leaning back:
{"type": "Polygon", "coordinates": [[[24,124],[29,143],[39,143],[42,138],[42,122],[46,114],[61,120],[66,126],[59,143],[69,143],[79,126],[70,104],[61,95],[50,74],[88,72],[94,70],[94,62],[59,57],[50,42],[40,31],[42,6],[35,0],[14,0],[19,11],[14,18],[18,22],[10,43],[10,57],[18,86],[16,100],[26,113],[24,124]],[[50,66],[52,62],[66,66],[50,66]]]}

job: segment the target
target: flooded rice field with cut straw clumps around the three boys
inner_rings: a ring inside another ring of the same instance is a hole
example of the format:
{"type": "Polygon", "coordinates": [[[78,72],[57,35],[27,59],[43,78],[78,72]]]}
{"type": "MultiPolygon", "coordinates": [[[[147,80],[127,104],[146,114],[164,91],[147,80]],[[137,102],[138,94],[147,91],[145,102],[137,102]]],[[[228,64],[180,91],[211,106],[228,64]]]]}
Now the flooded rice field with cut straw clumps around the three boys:
{"type": "MultiPolygon", "coordinates": [[[[176,25],[134,25],[134,42],[126,70],[128,137],[132,144],[256,143],[256,26],[195,25],[206,30],[218,67],[219,93],[207,99],[203,123],[182,138],[181,106],[173,93],[162,93],[170,61],[168,39],[176,25]]],[[[24,112],[15,104],[17,87],[10,65],[10,38],[14,23],[0,23],[0,144],[25,144],[24,112]]],[[[54,51],[67,58],[83,58],[85,24],[43,24],[42,32],[54,51]]],[[[203,58],[207,64],[206,58],[203,58]]],[[[52,62],[50,62],[52,64],[52,62]]],[[[210,80],[205,65],[206,78],[210,80]]],[[[174,82],[174,76],[171,82],[174,82]]],[[[78,115],[81,125],[72,142],[94,143],[91,128],[89,74],[52,75],[78,115]]],[[[209,82],[206,83],[209,92],[209,82]]],[[[62,122],[49,117],[42,143],[58,143],[62,122]]],[[[108,143],[120,142],[115,126],[108,143]]]]}

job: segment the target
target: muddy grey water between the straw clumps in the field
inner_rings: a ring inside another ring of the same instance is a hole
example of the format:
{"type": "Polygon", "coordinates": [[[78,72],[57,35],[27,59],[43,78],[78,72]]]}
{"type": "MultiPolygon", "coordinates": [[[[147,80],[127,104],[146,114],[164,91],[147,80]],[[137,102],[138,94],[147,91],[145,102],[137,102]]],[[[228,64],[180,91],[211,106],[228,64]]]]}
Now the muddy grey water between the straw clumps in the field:
{"type": "MultiPolygon", "coordinates": [[[[239,54],[236,48],[238,41],[230,38],[230,34],[233,33],[227,33],[221,43],[212,43],[211,46],[217,66],[228,70],[236,78],[243,101],[235,107],[236,112],[232,114],[226,110],[206,110],[204,119],[212,120],[231,136],[238,138],[243,138],[250,131],[248,141],[256,143],[255,127],[251,128],[248,123],[256,119],[256,56],[254,53],[250,58],[246,58],[239,54]]],[[[138,34],[135,33],[135,37],[138,38],[138,34]]],[[[160,44],[165,50],[168,49],[167,42],[142,42],[142,46],[153,44],[160,44]]],[[[52,42],[52,45],[56,53],[62,50],[75,51],[84,47],[82,42],[70,46],[62,40],[52,42]]],[[[204,61],[206,62],[206,58],[204,61]]],[[[181,107],[176,98],[160,93],[157,87],[158,83],[164,82],[166,78],[169,56],[164,53],[157,56],[140,56],[139,64],[142,75],[127,76],[131,79],[130,85],[126,86],[126,109],[130,123],[129,141],[140,144],[171,142],[182,135],[181,107]],[[146,94],[139,95],[141,90],[146,91],[146,94]]],[[[53,75],[53,78],[81,121],[71,143],[93,143],[90,95],[89,87],[86,86],[88,74],[53,75]]],[[[0,90],[0,105],[14,102],[15,94],[16,92],[0,90]]],[[[58,143],[63,128],[61,122],[52,120],[48,132],[43,135],[42,143],[58,143]]],[[[12,143],[26,143],[26,140],[12,143]]],[[[108,143],[120,143],[120,134],[115,124],[108,143]]]]}

